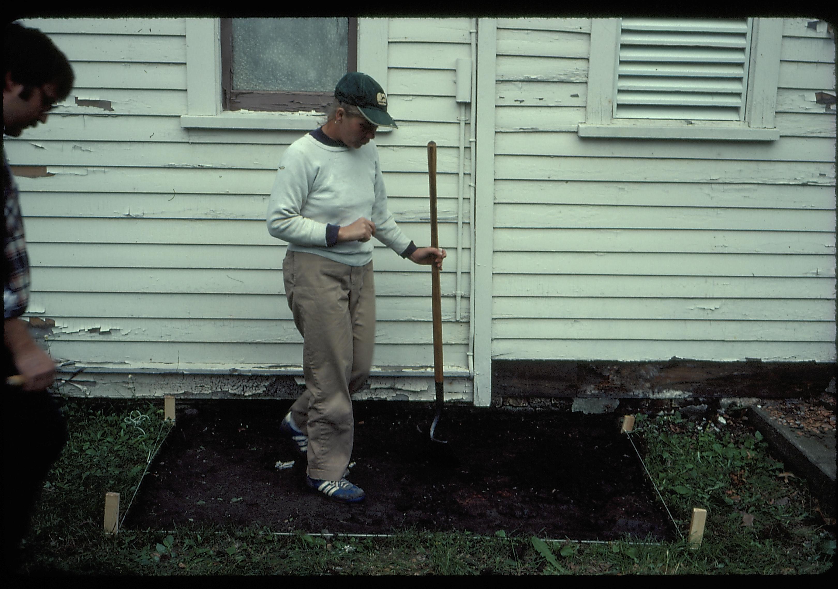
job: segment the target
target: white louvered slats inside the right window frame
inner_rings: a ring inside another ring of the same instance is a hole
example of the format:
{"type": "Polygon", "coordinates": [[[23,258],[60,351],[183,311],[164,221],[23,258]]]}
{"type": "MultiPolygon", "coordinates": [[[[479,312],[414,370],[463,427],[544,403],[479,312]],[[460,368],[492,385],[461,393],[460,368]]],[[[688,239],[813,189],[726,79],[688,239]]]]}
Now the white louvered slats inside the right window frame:
{"type": "Polygon", "coordinates": [[[743,120],[750,18],[623,18],[614,118],[743,120]]]}

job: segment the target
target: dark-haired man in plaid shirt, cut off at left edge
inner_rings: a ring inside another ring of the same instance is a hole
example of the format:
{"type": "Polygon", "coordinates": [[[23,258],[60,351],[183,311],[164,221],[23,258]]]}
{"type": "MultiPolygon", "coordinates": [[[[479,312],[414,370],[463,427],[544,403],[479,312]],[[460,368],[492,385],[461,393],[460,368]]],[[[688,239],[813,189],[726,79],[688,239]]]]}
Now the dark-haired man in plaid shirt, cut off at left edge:
{"type": "MultiPolygon", "coordinates": [[[[34,28],[6,26],[3,65],[3,136],[17,137],[27,127],[45,123],[55,102],[73,87],[65,54],[34,28]]],[[[3,254],[3,562],[9,573],[20,565],[21,540],[44,478],[64,448],[67,426],[46,390],[55,380],[54,363],[29,335],[28,322],[20,319],[28,305],[29,264],[18,187],[5,145],[3,254]]]]}

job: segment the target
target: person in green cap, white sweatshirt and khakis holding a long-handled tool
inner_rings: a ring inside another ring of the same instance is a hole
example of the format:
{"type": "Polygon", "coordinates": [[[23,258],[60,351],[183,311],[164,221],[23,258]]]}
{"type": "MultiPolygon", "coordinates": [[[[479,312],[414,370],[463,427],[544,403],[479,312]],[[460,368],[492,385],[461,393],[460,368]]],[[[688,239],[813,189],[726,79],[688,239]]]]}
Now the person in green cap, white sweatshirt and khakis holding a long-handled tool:
{"type": "Polygon", "coordinates": [[[375,286],[370,238],[416,264],[442,269],[444,249],[416,248],[387,209],[379,126],[396,127],[387,97],[366,74],[334,89],[322,127],[294,141],[279,161],[267,211],[269,233],[288,243],[285,294],[303,335],[306,391],[280,424],[301,458],[309,489],[343,502],[365,499],[344,477],[352,454],[351,395],[370,375],[375,286]]]}

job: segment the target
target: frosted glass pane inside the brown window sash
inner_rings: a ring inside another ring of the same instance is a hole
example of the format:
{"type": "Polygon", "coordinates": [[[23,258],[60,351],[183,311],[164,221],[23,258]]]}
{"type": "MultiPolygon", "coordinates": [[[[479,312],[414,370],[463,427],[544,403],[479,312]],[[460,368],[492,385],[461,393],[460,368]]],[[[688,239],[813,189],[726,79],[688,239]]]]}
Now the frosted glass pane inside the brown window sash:
{"type": "Polygon", "coordinates": [[[348,31],[346,18],[234,18],[233,90],[332,92],[348,31]]]}

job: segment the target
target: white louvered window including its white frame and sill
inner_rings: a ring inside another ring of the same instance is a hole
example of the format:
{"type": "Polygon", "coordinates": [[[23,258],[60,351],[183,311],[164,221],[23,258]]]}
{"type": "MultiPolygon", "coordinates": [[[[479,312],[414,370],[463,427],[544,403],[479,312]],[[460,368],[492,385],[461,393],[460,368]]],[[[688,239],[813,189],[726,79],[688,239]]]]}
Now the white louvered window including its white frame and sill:
{"type": "Polygon", "coordinates": [[[782,21],[594,19],[582,137],[771,141],[782,21]]]}

